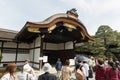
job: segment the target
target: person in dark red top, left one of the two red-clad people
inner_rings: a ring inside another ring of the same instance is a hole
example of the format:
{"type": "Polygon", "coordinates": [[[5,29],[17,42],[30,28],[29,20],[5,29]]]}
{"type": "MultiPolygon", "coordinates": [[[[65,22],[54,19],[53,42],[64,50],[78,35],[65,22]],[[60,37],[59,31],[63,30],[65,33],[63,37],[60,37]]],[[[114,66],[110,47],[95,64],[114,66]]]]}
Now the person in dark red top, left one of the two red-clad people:
{"type": "Polygon", "coordinates": [[[95,80],[105,80],[106,68],[103,66],[103,58],[97,59],[97,65],[94,67],[95,80]]]}

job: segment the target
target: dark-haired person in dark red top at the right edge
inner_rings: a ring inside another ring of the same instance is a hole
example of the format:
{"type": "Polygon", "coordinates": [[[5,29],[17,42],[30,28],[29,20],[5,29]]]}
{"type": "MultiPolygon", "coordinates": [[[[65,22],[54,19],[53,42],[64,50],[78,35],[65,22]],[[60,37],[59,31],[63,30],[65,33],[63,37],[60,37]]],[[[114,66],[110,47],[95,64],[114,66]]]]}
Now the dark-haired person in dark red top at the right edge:
{"type": "Polygon", "coordinates": [[[108,61],[106,69],[106,80],[120,80],[120,72],[114,62],[108,61]]]}

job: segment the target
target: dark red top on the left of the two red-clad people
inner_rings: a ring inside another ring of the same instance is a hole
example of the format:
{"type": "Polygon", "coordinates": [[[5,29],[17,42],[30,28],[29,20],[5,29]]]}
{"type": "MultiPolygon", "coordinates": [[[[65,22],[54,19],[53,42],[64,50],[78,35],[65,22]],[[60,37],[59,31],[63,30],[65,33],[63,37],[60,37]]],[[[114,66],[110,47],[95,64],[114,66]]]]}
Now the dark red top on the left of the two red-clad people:
{"type": "Polygon", "coordinates": [[[106,71],[105,67],[95,66],[94,67],[95,80],[105,80],[105,71],[106,71]]]}

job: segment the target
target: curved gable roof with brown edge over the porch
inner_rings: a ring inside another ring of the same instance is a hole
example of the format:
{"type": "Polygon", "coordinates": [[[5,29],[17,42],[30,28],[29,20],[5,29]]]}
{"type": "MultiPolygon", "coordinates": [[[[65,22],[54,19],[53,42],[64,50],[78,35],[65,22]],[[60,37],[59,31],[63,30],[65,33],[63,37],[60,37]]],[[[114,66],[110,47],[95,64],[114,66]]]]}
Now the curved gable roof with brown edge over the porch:
{"type": "MultiPolygon", "coordinates": [[[[74,14],[71,13],[59,13],[55,14],[47,19],[45,19],[42,22],[26,22],[23,29],[17,34],[16,39],[19,41],[26,41],[25,39],[34,39],[37,37],[37,33],[41,33],[41,29],[49,29],[53,26],[55,26],[57,23],[63,22],[67,23],[68,25],[74,26],[76,28],[80,28],[81,34],[85,37],[85,39],[93,40],[93,38],[88,34],[85,26],[82,24],[82,22],[78,19],[78,16],[76,17],[74,14]],[[30,31],[30,29],[37,30],[37,33],[30,31]],[[24,35],[23,35],[24,34],[24,35]],[[31,37],[31,38],[30,38],[31,37]]],[[[55,29],[55,27],[53,28],[55,29]]]]}

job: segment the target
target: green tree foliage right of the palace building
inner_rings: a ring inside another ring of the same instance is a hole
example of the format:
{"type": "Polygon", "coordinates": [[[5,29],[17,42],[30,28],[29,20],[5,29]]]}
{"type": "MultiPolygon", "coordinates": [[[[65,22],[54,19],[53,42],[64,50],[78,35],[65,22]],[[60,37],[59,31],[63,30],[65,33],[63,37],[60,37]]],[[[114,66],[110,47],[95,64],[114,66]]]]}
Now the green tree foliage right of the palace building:
{"type": "Polygon", "coordinates": [[[95,56],[113,56],[120,53],[120,32],[113,31],[108,25],[101,25],[94,35],[94,41],[84,43],[79,48],[95,56]]]}

